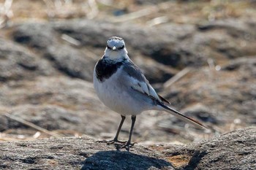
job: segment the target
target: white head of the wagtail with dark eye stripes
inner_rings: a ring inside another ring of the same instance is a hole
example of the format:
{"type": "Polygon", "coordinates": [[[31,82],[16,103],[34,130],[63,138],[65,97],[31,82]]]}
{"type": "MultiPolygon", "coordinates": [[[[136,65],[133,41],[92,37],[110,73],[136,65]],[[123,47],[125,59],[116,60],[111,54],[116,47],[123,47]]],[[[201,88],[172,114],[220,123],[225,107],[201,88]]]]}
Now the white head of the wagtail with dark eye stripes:
{"type": "Polygon", "coordinates": [[[108,39],[105,55],[112,60],[119,60],[127,57],[127,49],[124,39],[118,36],[112,36],[108,39]]]}

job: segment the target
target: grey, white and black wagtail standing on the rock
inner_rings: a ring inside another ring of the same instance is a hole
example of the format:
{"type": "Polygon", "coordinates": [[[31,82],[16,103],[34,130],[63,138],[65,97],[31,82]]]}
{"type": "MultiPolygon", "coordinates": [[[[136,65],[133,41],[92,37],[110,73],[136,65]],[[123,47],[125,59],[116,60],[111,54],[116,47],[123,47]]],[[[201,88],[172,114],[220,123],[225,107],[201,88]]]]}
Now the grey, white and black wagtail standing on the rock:
{"type": "Polygon", "coordinates": [[[94,68],[94,88],[97,96],[107,107],[121,115],[116,136],[110,142],[119,142],[118,134],[127,115],[132,116],[129,139],[124,145],[132,146],[132,131],[136,116],[146,110],[165,110],[181,120],[197,127],[205,127],[196,120],[170,108],[170,102],[156,93],[139,67],[127,55],[124,39],[112,36],[108,39],[105,54],[94,68]]]}

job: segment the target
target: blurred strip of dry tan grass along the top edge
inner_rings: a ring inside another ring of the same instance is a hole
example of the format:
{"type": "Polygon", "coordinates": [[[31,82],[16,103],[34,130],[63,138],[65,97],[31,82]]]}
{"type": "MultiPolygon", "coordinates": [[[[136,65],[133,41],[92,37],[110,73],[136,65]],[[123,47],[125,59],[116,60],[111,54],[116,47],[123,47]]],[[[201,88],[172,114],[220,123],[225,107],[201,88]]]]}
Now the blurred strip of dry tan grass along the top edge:
{"type": "Polygon", "coordinates": [[[0,0],[0,24],[22,20],[88,18],[113,22],[136,22],[148,26],[161,23],[199,23],[204,20],[253,17],[253,1],[167,1],[138,5],[117,0],[0,0]]]}

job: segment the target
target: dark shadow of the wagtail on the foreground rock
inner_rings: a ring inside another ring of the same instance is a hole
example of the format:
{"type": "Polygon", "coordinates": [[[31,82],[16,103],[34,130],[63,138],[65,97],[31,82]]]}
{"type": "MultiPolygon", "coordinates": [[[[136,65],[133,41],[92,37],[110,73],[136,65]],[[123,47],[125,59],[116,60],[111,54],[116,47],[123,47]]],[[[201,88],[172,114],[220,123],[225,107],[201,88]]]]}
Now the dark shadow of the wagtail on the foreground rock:
{"type": "Polygon", "coordinates": [[[81,169],[172,169],[171,163],[152,158],[146,155],[138,155],[132,152],[109,150],[99,151],[83,162],[81,169]]]}

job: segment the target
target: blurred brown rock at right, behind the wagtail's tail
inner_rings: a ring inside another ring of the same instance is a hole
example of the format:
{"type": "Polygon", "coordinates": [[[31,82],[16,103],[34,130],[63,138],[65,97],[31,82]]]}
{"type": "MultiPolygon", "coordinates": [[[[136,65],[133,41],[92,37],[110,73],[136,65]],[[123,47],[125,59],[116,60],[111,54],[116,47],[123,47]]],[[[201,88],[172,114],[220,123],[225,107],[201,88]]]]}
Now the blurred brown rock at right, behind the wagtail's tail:
{"type": "MultiPolygon", "coordinates": [[[[256,121],[253,109],[256,107],[256,81],[252,77],[255,77],[255,58],[237,58],[219,71],[208,67],[192,70],[162,93],[174,106],[183,109],[181,112],[187,112],[195,104],[201,104],[211,108],[207,111],[207,117],[211,117],[211,121],[221,120],[232,126],[239,119],[241,123],[238,124],[250,125],[256,121]]],[[[200,109],[200,115],[193,111],[189,116],[197,115],[201,119],[203,112],[205,111],[200,109]]],[[[165,120],[166,117],[163,117],[163,121],[165,120]]]]}

